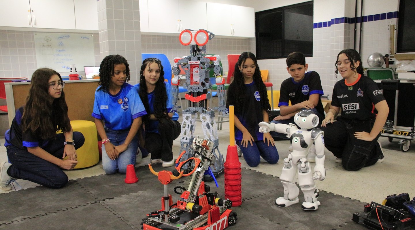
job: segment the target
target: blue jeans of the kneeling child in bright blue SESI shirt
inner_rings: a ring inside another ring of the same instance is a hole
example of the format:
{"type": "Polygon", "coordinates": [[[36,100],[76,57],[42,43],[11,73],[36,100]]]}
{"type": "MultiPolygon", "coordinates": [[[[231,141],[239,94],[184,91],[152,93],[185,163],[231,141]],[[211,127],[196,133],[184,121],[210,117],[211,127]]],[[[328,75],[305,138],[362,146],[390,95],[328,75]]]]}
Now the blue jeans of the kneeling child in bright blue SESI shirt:
{"type": "MultiPolygon", "coordinates": [[[[119,146],[120,144],[123,144],[125,139],[127,138],[128,132],[129,129],[115,131],[105,127],[105,133],[107,134],[107,138],[110,139],[111,144],[113,144],[114,146],[119,146]]],[[[138,136],[135,135],[135,137],[128,145],[127,149],[124,152],[120,153],[120,155],[118,155],[118,158],[115,158],[115,160],[111,160],[110,157],[108,157],[104,145],[102,145],[101,149],[103,152],[102,158],[105,173],[114,174],[120,172],[125,174],[127,172],[127,165],[135,165],[135,158],[138,149],[138,136]]]]}

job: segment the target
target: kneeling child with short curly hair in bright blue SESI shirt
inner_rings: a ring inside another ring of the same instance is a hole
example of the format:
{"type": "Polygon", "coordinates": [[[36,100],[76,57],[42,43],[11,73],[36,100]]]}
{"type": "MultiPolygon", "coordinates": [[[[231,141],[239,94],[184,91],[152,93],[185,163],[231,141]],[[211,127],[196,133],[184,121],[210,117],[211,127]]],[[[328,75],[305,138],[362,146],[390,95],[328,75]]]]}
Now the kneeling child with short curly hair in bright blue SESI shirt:
{"type": "Polygon", "coordinates": [[[102,139],[103,168],[107,174],[126,173],[127,165],[135,164],[137,131],[147,113],[134,86],[126,82],[130,71],[124,57],[104,57],[99,75],[92,116],[102,139]]]}

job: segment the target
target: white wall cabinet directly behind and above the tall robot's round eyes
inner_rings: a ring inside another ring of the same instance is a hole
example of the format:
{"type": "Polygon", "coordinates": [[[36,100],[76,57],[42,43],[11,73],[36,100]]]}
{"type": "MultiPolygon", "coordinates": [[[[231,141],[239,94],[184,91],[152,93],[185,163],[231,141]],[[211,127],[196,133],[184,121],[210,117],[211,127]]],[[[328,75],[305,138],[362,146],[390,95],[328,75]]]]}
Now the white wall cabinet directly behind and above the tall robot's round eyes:
{"type": "Polygon", "coordinates": [[[148,31],[153,33],[179,34],[184,29],[206,29],[206,15],[206,2],[191,0],[151,0],[148,1],[148,31]]]}

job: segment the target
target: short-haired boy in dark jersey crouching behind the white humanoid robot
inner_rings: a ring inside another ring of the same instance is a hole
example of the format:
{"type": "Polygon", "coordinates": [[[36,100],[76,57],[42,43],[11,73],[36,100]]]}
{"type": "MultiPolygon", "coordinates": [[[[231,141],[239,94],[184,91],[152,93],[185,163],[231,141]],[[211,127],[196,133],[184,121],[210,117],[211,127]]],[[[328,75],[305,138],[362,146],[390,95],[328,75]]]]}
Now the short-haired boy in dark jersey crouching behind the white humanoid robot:
{"type": "MultiPolygon", "coordinates": [[[[294,115],[301,110],[310,109],[319,117],[319,124],[324,119],[324,108],[321,103],[320,96],[323,95],[320,76],[315,71],[305,72],[308,64],[305,63],[303,53],[290,53],[286,59],[287,71],[291,75],[281,84],[280,99],[278,107],[280,107],[281,115],[274,117],[272,123],[289,124],[294,123],[294,115]],[[291,101],[291,106],[288,102],[291,101]]],[[[285,134],[271,132],[271,136],[277,139],[286,139],[285,134]]],[[[290,149],[291,150],[291,149],[290,149]]],[[[311,153],[315,149],[310,149],[311,153]]],[[[308,160],[314,162],[315,154],[310,154],[308,160]]]]}

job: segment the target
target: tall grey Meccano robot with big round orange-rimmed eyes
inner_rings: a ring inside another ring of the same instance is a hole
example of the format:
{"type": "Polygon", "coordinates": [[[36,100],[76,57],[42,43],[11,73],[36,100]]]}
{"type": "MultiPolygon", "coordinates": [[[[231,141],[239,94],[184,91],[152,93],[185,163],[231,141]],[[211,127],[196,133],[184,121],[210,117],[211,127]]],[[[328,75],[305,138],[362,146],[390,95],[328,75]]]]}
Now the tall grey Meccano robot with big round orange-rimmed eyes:
{"type": "Polygon", "coordinates": [[[202,129],[205,138],[213,142],[213,153],[216,161],[212,162],[211,171],[215,174],[223,172],[223,156],[218,149],[219,140],[217,137],[217,124],[215,122],[215,110],[227,115],[225,107],[225,79],[220,74],[222,67],[220,66],[219,55],[206,55],[206,43],[211,40],[215,34],[210,31],[200,29],[198,31],[186,29],[181,32],[179,41],[183,46],[190,45],[190,55],[186,57],[176,57],[174,65],[171,69],[173,78],[171,79],[173,91],[173,110],[177,110],[177,99],[180,85],[180,67],[186,73],[186,82],[183,87],[187,89],[185,95],[189,102],[189,107],[183,110],[183,122],[181,129],[181,150],[186,153],[181,155],[181,161],[186,161],[192,156],[192,149],[190,145],[193,143],[193,132],[195,131],[196,118],[200,114],[200,121],[202,122],[202,129]],[[215,82],[217,84],[217,96],[219,106],[215,110],[207,107],[207,100],[212,98],[212,95],[207,92],[212,88],[210,82],[210,69],[213,68],[215,72],[215,82]],[[183,128],[184,127],[184,128],[183,128]]]}

